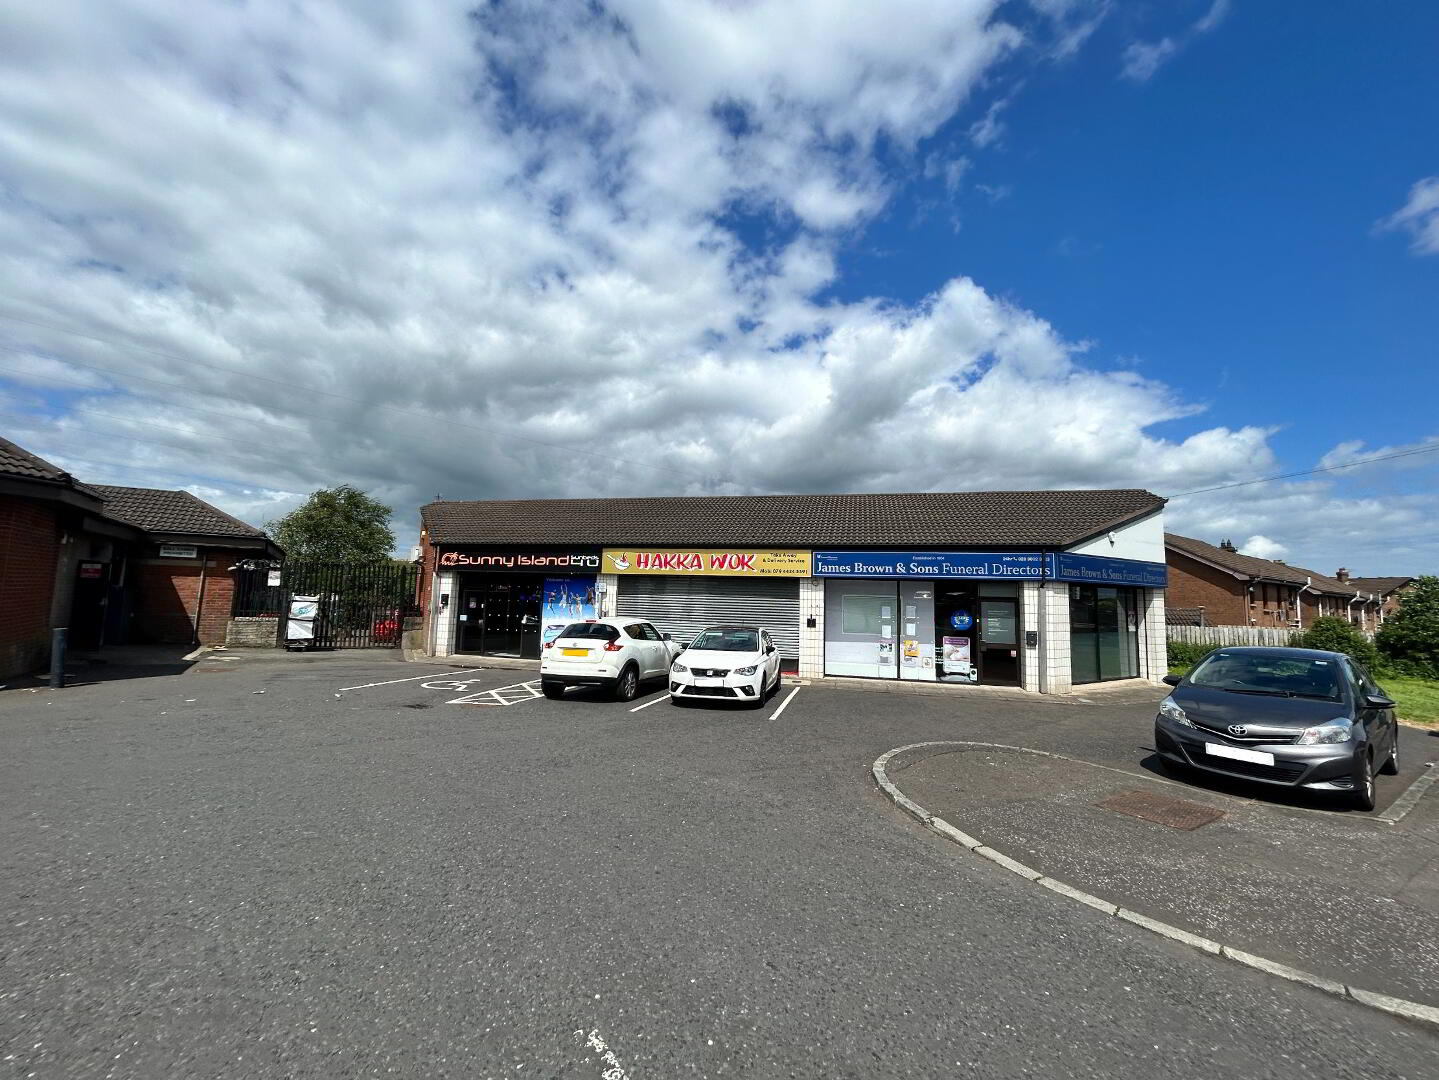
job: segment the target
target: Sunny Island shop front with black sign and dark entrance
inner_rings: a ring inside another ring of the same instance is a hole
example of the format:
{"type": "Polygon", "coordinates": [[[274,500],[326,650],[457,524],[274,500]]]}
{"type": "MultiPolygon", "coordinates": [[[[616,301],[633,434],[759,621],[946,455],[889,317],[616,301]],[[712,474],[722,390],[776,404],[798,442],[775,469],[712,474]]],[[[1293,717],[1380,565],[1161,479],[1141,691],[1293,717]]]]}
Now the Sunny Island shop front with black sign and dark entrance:
{"type": "Polygon", "coordinates": [[[567,623],[594,618],[599,548],[450,548],[436,565],[453,574],[455,653],[535,660],[567,623]]]}

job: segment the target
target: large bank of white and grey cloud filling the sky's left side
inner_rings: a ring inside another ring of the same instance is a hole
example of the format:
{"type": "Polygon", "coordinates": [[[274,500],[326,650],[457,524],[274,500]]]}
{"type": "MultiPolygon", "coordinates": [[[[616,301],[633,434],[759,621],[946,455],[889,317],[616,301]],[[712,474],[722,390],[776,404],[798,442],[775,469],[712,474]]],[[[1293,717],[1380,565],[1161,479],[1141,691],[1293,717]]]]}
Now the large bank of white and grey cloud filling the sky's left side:
{"type": "MultiPolygon", "coordinates": [[[[827,292],[902,181],[881,147],[921,160],[1019,56],[1002,10],[27,9],[0,69],[7,437],[249,521],[355,483],[403,546],[436,493],[1278,472],[1268,429],[1206,420],[967,276],[914,303],[827,292]]],[[[1335,505],[1284,525],[1256,500],[1227,528],[1291,542],[1335,505]]]]}

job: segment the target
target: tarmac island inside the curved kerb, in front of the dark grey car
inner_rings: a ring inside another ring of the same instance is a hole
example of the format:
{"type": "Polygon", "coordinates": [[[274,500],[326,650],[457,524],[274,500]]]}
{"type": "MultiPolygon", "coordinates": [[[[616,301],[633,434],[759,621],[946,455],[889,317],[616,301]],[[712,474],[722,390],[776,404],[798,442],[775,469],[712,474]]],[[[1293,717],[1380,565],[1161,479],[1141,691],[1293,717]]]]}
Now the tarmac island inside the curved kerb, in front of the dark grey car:
{"type": "Polygon", "coordinates": [[[1065,758],[927,751],[898,759],[889,779],[1042,874],[1245,952],[1439,1007],[1439,798],[1387,825],[1065,758]]]}

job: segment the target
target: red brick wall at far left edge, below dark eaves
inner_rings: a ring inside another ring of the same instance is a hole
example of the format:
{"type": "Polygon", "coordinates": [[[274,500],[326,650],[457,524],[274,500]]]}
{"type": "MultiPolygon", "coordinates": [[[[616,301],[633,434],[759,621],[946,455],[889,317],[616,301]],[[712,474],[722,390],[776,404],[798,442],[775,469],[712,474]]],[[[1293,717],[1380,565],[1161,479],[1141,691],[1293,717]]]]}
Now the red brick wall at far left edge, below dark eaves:
{"type": "Polygon", "coordinates": [[[43,670],[60,554],[55,509],[0,496],[0,677],[43,670]]]}

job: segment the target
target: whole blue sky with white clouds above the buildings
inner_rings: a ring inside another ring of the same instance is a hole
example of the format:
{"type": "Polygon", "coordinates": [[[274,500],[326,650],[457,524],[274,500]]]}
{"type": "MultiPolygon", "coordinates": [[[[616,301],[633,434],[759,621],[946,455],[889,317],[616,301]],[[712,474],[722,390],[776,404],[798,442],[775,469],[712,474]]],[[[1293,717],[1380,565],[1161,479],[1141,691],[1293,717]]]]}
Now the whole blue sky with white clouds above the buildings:
{"type": "Polygon", "coordinates": [[[1147,488],[1439,572],[1436,40],[1324,0],[0,0],[0,431],[258,525],[351,483],[401,552],[436,495],[1147,488]]]}

